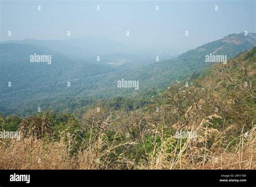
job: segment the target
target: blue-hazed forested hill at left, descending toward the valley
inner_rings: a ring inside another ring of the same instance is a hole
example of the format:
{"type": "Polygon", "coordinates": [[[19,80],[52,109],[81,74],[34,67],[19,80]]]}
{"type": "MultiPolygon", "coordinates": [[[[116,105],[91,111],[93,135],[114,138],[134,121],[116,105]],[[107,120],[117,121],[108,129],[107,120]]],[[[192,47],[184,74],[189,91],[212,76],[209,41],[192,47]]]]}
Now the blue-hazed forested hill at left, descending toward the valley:
{"type": "Polygon", "coordinates": [[[72,81],[113,71],[105,64],[74,61],[48,48],[12,43],[0,44],[0,66],[3,113],[17,113],[24,108],[26,113],[34,113],[43,100],[51,103],[56,98],[76,95],[76,91],[67,87],[68,82],[72,85],[72,81]],[[34,54],[51,55],[51,63],[30,62],[34,54]]]}

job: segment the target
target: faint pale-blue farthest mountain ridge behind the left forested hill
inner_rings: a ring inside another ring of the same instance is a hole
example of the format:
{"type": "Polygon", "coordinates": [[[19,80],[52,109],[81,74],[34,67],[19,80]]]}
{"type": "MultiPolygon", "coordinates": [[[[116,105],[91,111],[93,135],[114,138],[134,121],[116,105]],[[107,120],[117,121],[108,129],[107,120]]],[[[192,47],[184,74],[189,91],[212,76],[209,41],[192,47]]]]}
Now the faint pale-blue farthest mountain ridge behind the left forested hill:
{"type": "Polygon", "coordinates": [[[96,56],[109,53],[126,53],[137,51],[134,46],[131,47],[114,40],[107,40],[100,37],[71,38],[65,40],[24,39],[2,42],[2,44],[8,43],[28,44],[48,48],[52,51],[59,52],[60,54],[76,59],[95,59],[96,56]]]}

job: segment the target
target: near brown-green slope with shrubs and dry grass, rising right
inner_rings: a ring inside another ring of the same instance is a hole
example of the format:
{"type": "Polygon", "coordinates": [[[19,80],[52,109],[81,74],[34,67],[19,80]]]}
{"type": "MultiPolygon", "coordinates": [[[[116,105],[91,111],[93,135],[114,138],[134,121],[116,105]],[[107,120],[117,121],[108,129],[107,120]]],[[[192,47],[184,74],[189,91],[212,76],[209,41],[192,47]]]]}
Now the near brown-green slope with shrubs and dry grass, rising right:
{"type": "Polygon", "coordinates": [[[256,47],[133,111],[0,116],[2,169],[255,169],[256,47]],[[242,155],[242,156],[241,156],[242,155]],[[21,159],[22,158],[22,159],[21,159]],[[40,159],[40,164],[36,162],[40,159]],[[36,161],[35,161],[36,160],[36,161]]]}

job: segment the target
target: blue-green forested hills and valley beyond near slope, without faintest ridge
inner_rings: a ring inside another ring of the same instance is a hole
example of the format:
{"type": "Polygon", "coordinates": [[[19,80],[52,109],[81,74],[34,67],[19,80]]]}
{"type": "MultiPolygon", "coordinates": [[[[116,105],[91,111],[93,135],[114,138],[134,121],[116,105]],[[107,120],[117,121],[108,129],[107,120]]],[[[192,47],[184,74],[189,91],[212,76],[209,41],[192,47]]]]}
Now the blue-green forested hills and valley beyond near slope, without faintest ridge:
{"type": "Polygon", "coordinates": [[[256,34],[230,34],[175,59],[161,61],[159,56],[159,62],[138,68],[133,68],[129,62],[116,68],[90,60],[70,59],[60,52],[62,48],[56,52],[42,46],[43,42],[38,46],[33,40],[29,44],[20,43],[0,44],[0,113],[4,115],[28,116],[36,114],[38,107],[42,111],[53,109],[60,113],[82,114],[103,99],[113,99],[117,108],[121,106],[119,103],[126,103],[129,110],[141,107],[167,85],[200,76],[205,67],[211,65],[205,61],[206,55],[226,55],[229,59],[251,49],[256,45],[256,34]],[[29,56],[35,53],[51,54],[52,63],[31,63],[29,56]],[[139,89],[117,88],[117,82],[122,79],[139,81],[139,89]]]}

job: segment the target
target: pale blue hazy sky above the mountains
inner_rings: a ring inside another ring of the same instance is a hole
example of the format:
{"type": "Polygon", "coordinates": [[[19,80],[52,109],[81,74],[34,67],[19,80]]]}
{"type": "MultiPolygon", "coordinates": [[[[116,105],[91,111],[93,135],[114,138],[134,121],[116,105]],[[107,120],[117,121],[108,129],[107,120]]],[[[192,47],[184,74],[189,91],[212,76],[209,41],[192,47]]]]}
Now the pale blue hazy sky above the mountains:
{"type": "Polygon", "coordinates": [[[1,41],[99,36],[152,49],[191,49],[256,32],[256,1],[3,1],[1,41]],[[41,10],[37,6],[41,5],[41,10]],[[97,5],[99,10],[97,11],[97,5]],[[156,11],[156,5],[159,10],[156,11]],[[218,10],[215,10],[218,5],[218,10]],[[8,36],[8,31],[12,32],[8,36]],[[68,37],[67,31],[71,32],[68,37]],[[130,36],[126,36],[130,31],[130,36]],[[185,36],[188,31],[188,36],[185,36]]]}

